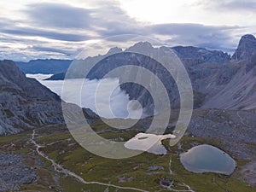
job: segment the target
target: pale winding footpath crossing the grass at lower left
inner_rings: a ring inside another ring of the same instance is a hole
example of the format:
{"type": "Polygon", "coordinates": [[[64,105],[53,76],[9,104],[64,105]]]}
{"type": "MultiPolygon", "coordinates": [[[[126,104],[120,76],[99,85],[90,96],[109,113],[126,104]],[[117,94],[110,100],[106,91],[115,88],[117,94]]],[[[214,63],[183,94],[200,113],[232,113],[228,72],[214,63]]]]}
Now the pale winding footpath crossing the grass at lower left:
{"type": "Polygon", "coordinates": [[[113,188],[116,188],[116,189],[129,189],[129,190],[134,190],[134,191],[148,192],[148,190],[144,190],[144,189],[137,189],[137,188],[131,188],[131,187],[121,187],[121,186],[114,185],[114,184],[109,184],[109,183],[88,182],[88,181],[85,181],[84,178],[79,177],[79,175],[77,175],[76,173],[71,172],[71,171],[65,169],[65,168],[64,168],[63,166],[61,166],[60,164],[57,164],[57,163],[55,162],[55,160],[50,159],[46,154],[44,154],[43,152],[41,152],[41,151],[40,151],[40,148],[43,148],[44,146],[41,146],[41,145],[39,145],[38,143],[36,143],[36,141],[35,141],[35,135],[36,135],[36,131],[33,130],[33,132],[32,132],[32,137],[31,137],[31,142],[35,145],[38,154],[39,154],[40,156],[44,157],[45,160],[49,160],[49,161],[51,162],[52,166],[54,166],[54,168],[55,168],[55,172],[60,172],[60,173],[65,174],[65,175],[67,175],[67,176],[74,177],[74,178],[76,178],[80,183],[84,183],[84,184],[99,184],[99,185],[102,185],[102,186],[113,187],[113,188]]]}

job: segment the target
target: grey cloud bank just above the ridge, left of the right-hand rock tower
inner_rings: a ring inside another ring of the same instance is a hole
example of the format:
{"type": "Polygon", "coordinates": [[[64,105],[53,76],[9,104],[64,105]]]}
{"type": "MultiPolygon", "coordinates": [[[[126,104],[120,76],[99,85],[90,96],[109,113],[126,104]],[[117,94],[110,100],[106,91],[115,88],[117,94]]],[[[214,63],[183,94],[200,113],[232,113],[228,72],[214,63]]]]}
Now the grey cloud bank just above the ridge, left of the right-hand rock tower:
{"type": "Polygon", "coordinates": [[[225,49],[236,46],[230,35],[239,26],[204,26],[200,24],[161,24],[150,26],[152,33],[169,35],[170,44],[194,45],[208,49],[225,49]]]}

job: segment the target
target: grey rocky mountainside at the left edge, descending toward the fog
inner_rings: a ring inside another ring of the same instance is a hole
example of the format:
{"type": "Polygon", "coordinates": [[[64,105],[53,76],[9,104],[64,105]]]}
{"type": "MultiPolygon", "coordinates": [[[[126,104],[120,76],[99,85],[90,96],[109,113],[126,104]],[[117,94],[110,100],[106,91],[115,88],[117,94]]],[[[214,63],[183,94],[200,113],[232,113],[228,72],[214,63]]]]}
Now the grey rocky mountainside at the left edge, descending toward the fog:
{"type": "MultiPolygon", "coordinates": [[[[73,104],[66,105],[73,113],[79,110],[73,104]]],[[[94,115],[84,109],[87,112],[94,115]]],[[[0,135],[61,124],[61,98],[36,79],[27,79],[14,61],[0,61],[0,135]]]]}

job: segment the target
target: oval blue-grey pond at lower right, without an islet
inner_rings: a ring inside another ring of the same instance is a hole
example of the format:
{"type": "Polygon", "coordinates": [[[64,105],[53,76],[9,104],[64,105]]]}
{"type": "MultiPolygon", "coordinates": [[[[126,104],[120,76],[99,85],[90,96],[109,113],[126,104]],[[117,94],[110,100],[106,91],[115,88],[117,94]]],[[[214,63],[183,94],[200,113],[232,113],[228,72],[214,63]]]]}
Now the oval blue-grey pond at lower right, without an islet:
{"type": "Polygon", "coordinates": [[[236,161],[229,154],[211,145],[203,144],[180,154],[180,160],[189,172],[216,172],[230,175],[236,169],[236,161]]]}

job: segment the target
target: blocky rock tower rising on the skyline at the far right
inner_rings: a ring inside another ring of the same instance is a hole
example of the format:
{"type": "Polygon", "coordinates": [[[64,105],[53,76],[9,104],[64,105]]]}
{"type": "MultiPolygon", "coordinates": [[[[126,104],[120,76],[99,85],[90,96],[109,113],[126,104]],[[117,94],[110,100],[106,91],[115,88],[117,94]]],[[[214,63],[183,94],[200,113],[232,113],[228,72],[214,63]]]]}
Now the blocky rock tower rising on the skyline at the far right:
{"type": "Polygon", "coordinates": [[[256,38],[253,35],[244,35],[241,37],[232,59],[236,61],[247,61],[254,54],[256,54],[256,38]]]}

